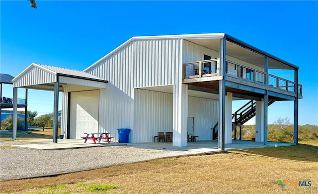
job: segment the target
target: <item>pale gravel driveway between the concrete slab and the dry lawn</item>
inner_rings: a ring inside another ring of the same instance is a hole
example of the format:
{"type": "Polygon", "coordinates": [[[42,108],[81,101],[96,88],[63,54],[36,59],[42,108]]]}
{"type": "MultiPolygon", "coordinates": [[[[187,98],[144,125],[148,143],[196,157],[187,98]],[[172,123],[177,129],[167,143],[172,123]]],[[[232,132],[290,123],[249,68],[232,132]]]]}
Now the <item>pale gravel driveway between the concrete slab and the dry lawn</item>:
{"type": "Polygon", "coordinates": [[[103,146],[66,150],[38,150],[12,146],[18,144],[30,144],[30,142],[0,141],[1,180],[74,172],[169,156],[198,154],[195,151],[154,149],[142,146],[103,146]],[[87,156],[87,153],[94,154],[87,156]]]}

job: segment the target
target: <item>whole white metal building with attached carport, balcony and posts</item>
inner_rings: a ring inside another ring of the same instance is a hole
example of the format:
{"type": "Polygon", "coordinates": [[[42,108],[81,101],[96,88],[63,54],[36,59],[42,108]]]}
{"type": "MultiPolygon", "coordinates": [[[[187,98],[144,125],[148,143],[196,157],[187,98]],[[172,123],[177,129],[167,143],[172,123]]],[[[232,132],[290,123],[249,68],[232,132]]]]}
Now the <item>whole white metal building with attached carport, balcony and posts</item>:
{"type": "MultiPolygon", "coordinates": [[[[31,64],[13,79],[17,87],[63,93],[62,131],[78,139],[83,132],[130,128],[130,142],[152,142],[173,132],[173,146],[200,140],[232,142],[232,131],[256,116],[256,141],[267,144],[267,106],[294,101],[298,132],[298,67],[225,33],[133,37],[83,72],[31,64]],[[294,80],[269,69],[294,72],[294,80]],[[232,101],[250,99],[240,110],[232,101]],[[244,111],[242,111],[244,110],[244,111]],[[232,112],[235,111],[233,115],[232,112]]],[[[54,136],[57,142],[57,134],[54,136]]],[[[297,135],[294,136],[297,143],[297,135]]]]}

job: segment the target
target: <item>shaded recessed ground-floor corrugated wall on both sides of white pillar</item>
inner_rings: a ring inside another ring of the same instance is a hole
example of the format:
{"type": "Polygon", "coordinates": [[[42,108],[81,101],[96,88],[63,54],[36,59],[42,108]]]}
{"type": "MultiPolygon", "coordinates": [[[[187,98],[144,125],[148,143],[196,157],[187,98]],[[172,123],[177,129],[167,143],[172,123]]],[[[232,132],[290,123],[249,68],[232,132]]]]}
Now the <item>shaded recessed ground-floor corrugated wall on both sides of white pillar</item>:
{"type": "MultiPolygon", "coordinates": [[[[131,140],[152,142],[158,132],[173,131],[173,94],[135,89],[134,103],[134,130],[143,133],[132,135],[131,140]]],[[[218,122],[218,101],[188,97],[188,116],[194,117],[194,135],[211,140],[211,128],[218,122]]]]}

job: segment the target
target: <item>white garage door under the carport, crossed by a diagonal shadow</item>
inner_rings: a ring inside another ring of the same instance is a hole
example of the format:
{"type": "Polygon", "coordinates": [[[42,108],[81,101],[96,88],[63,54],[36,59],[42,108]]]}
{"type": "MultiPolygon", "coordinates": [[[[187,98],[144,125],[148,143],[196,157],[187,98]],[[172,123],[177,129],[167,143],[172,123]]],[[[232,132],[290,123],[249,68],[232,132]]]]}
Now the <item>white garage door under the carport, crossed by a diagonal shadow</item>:
{"type": "Polygon", "coordinates": [[[70,139],[81,139],[84,133],[98,130],[99,91],[71,93],[70,139]]]}

